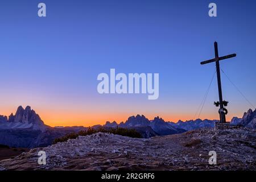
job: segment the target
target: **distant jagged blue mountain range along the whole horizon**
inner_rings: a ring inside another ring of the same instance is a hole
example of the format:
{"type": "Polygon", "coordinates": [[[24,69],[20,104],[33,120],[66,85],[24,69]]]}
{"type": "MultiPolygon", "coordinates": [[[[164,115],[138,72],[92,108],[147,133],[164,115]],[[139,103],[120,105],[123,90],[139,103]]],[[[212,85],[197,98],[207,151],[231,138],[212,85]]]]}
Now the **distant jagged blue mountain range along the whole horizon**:
{"type": "MultiPolygon", "coordinates": [[[[166,122],[162,118],[155,117],[153,120],[147,119],[144,115],[131,116],[126,122],[106,122],[105,125],[95,125],[98,127],[126,127],[133,128],[142,134],[144,138],[154,137],[156,135],[171,135],[184,133],[185,131],[195,130],[203,127],[214,127],[218,120],[196,119],[195,121],[166,122]]],[[[245,127],[256,128],[256,110],[249,109],[243,114],[242,118],[234,117],[232,125],[242,125],[245,127]]],[[[55,138],[80,130],[86,130],[88,127],[50,127],[44,124],[42,119],[30,106],[23,109],[19,106],[16,113],[11,113],[9,117],[0,115],[0,144],[11,147],[44,147],[52,143],[55,138]]]]}

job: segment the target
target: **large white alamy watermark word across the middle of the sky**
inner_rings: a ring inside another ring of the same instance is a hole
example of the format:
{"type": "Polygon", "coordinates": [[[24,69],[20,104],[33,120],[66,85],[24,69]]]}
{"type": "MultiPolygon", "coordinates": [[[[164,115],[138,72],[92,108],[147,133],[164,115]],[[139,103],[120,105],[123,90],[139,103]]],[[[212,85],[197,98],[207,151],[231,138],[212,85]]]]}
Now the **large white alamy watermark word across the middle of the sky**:
{"type": "Polygon", "coordinates": [[[110,77],[106,73],[100,73],[97,77],[101,81],[98,93],[143,93],[148,94],[148,100],[156,100],[159,97],[159,73],[125,73],[115,75],[115,69],[110,69],[110,77]],[[116,83],[117,81],[117,83],[116,83]]]}

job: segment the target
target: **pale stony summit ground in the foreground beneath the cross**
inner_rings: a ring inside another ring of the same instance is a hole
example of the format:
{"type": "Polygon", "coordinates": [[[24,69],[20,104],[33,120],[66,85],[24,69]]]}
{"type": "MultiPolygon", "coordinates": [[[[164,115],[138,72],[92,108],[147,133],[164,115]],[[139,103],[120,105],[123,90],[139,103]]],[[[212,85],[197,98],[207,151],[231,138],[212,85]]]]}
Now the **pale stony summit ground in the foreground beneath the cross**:
{"type": "Polygon", "coordinates": [[[138,139],[97,133],[0,161],[1,170],[256,170],[253,129],[200,129],[138,139]],[[45,151],[46,165],[38,164],[45,151]],[[217,164],[210,165],[209,151],[217,164]]]}

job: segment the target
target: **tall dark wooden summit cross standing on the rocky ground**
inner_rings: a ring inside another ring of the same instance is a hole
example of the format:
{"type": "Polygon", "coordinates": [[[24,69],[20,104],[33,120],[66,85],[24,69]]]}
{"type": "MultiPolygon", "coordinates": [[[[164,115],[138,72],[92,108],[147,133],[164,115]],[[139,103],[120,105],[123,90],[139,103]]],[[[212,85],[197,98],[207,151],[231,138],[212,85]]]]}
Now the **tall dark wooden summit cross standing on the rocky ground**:
{"type": "Polygon", "coordinates": [[[210,59],[207,61],[201,62],[201,64],[207,64],[207,63],[216,63],[216,72],[217,72],[217,81],[218,81],[218,97],[220,98],[220,109],[218,110],[218,113],[220,114],[220,122],[225,123],[226,117],[225,114],[227,114],[228,110],[224,108],[223,100],[222,100],[222,90],[221,90],[221,77],[220,77],[220,63],[218,61],[228,59],[231,57],[236,57],[236,54],[233,53],[232,55],[222,56],[218,57],[218,44],[217,42],[214,42],[214,51],[215,51],[215,58],[210,59]],[[226,113],[224,112],[226,110],[226,113]]]}

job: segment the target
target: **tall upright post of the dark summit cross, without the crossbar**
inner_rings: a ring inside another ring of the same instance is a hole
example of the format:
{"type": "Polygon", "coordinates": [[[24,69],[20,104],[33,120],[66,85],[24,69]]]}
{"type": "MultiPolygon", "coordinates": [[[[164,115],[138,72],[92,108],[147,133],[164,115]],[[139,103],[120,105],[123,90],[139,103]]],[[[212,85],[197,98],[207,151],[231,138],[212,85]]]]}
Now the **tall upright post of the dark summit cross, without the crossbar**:
{"type": "Polygon", "coordinates": [[[222,90],[221,90],[221,76],[220,76],[220,63],[218,58],[218,43],[214,42],[214,51],[215,51],[215,60],[216,60],[216,72],[217,72],[217,81],[218,81],[218,97],[220,99],[220,110],[218,113],[220,114],[220,122],[226,122],[226,116],[224,113],[223,99],[222,99],[222,90]]]}

